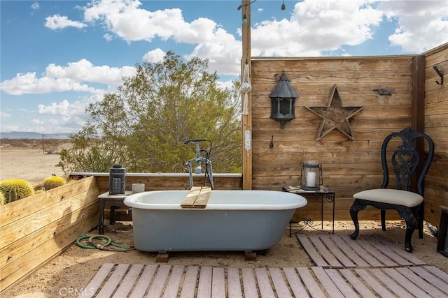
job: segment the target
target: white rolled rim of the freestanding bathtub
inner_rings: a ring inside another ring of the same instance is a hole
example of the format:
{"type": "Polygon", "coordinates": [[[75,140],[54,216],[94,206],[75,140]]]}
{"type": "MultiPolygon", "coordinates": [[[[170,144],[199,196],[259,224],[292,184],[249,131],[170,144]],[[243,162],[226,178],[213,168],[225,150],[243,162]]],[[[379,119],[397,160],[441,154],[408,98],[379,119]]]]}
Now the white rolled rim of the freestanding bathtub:
{"type": "Polygon", "coordinates": [[[272,193],[274,195],[289,196],[294,198],[295,203],[281,203],[281,204],[207,204],[204,209],[196,208],[182,208],[181,202],[179,204],[159,204],[159,203],[141,203],[137,202],[138,198],[148,193],[167,193],[167,192],[183,192],[188,193],[188,191],[182,190],[168,190],[168,191],[145,191],[143,193],[134,193],[129,195],[123,201],[127,207],[135,209],[149,209],[149,210],[185,210],[185,211],[204,211],[204,210],[285,210],[285,209],[297,209],[307,205],[308,201],[302,195],[297,195],[295,193],[286,193],[283,191],[268,191],[268,190],[213,190],[212,193],[216,192],[251,192],[253,193],[272,193]]]}

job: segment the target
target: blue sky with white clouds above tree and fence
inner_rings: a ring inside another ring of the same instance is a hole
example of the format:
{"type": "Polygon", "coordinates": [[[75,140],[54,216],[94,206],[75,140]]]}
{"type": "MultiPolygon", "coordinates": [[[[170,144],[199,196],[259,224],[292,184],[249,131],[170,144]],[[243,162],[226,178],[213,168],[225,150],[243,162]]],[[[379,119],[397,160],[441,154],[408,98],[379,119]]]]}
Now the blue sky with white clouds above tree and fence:
{"type": "MultiPolygon", "coordinates": [[[[421,54],[448,42],[448,0],[258,0],[253,56],[421,54]]],[[[76,133],[85,107],[172,50],[239,75],[241,1],[0,1],[0,131],[76,133]]]]}

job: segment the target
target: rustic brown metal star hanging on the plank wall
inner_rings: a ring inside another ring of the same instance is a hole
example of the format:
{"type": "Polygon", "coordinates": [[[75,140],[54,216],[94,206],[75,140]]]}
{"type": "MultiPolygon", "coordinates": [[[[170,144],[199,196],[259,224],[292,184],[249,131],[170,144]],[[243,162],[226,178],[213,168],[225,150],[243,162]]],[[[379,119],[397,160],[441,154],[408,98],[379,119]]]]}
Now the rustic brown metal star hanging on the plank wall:
{"type": "Polygon", "coordinates": [[[337,93],[336,84],[332,89],[329,103],[326,107],[306,107],[308,110],[321,117],[321,126],[317,132],[316,141],[321,140],[322,137],[337,128],[341,133],[344,133],[350,140],[355,140],[349,119],[354,114],[363,110],[363,107],[343,107],[342,100],[337,93]]]}

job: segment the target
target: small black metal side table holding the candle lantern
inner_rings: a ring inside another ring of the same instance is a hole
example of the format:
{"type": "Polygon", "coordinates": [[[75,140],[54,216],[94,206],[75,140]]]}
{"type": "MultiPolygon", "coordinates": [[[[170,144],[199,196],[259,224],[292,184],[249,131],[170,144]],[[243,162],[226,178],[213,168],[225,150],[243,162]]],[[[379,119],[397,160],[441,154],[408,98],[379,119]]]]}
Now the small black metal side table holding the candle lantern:
{"type": "MultiPolygon", "coordinates": [[[[288,193],[296,193],[297,195],[302,195],[302,197],[307,200],[317,199],[321,202],[321,230],[323,230],[323,202],[332,202],[332,234],[335,234],[335,192],[330,188],[321,186],[318,191],[304,191],[300,186],[283,186],[283,191],[288,193]]],[[[310,223],[312,223],[311,218],[302,219],[304,223],[304,228],[309,226],[313,228],[310,223]]],[[[291,221],[289,222],[289,236],[291,235],[291,221]]]]}

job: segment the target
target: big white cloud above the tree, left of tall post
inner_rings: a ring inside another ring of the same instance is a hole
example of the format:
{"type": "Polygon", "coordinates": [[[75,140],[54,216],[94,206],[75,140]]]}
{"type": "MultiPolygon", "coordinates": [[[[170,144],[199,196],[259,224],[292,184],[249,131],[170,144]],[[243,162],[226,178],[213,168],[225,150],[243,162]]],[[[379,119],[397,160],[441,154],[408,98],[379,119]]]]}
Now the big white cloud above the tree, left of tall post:
{"type": "MultiPolygon", "coordinates": [[[[239,73],[241,42],[214,20],[199,17],[189,23],[179,8],[148,11],[140,6],[139,1],[97,1],[85,8],[84,18],[86,22],[104,22],[109,31],[127,42],[158,37],[196,45],[187,59],[209,59],[210,70],[223,75],[239,73]]],[[[144,59],[158,59],[155,54],[160,52],[150,52],[144,59]]]]}

